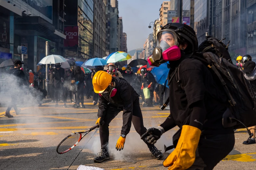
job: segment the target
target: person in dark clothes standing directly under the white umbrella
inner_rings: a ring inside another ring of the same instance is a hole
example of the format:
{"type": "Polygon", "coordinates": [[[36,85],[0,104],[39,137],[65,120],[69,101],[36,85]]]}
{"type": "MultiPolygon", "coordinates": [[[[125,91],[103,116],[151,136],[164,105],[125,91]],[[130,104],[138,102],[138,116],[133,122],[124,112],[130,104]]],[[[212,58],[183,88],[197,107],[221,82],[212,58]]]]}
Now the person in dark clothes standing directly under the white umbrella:
{"type": "MultiPolygon", "coordinates": [[[[55,102],[56,105],[55,107],[58,107],[58,99],[59,99],[59,94],[63,92],[63,82],[65,78],[65,70],[64,68],[60,67],[60,63],[55,64],[55,68],[52,71],[53,77],[54,77],[54,96],[55,96],[55,102]]],[[[64,96],[62,96],[64,97],[64,96]]],[[[65,99],[63,98],[64,106],[67,107],[65,99]]]]}

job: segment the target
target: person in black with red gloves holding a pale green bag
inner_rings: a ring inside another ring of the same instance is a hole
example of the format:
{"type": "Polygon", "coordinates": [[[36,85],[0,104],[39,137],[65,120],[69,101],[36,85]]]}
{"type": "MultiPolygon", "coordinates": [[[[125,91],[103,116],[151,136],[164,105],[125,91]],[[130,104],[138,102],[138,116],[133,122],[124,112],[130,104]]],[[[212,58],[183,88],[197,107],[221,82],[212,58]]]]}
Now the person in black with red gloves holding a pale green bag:
{"type": "Polygon", "coordinates": [[[146,68],[141,68],[140,70],[140,75],[141,75],[141,90],[144,87],[149,88],[150,91],[150,98],[147,99],[147,107],[153,107],[153,96],[154,96],[154,89],[155,89],[155,84],[156,84],[156,79],[154,78],[153,74],[148,72],[146,68]]]}

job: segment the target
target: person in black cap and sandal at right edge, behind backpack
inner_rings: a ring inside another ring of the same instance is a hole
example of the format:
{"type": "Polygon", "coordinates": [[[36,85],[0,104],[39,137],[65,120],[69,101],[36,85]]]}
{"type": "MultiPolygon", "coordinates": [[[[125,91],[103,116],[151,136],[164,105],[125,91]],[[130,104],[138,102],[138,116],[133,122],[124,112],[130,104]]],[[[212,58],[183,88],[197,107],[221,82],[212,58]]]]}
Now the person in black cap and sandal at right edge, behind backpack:
{"type": "MultiPolygon", "coordinates": [[[[250,82],[251,86],[252,86],[252,90],[254,95],[256,96],[256,64],[253,61],[250,61],[251,58],[247,58],[246,60],[244,60],[245,64],[244,64],[244,69],[243,69],[243,73],[244,73],[244,77],[250,82]]],[[[250,132],[253,134],[253,136],[247,140],[244,141],[243,144],[253,144],[256,143],[255,141],[255,129],[256,126],[252,126],[250,128],[250,132]]]]}

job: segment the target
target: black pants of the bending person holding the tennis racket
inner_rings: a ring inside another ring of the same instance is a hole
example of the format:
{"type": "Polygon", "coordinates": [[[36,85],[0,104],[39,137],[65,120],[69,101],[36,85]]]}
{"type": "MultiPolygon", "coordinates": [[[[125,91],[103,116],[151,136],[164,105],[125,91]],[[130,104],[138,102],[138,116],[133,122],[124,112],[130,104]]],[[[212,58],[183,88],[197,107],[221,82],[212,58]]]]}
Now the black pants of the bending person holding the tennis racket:
{"type": "MultiPolygon", "coordinates": [[[[122,108],[117,108],[116,106],[114,106],[112,104],[108,105],[107,112],[106,112],[106,115],[104,118],[104,125],[99,128],[99,136],[100,136],[100,142],[101,142],[102,149],[107,149],[107,145],[109,143],[109,123],[122,110],[123,110],[122,108]]],[[[142,118],[139,100],[136,100],[133,103],[132,123],[134,125],[136,132],[140,136],[142,136],[144,133],[146,133],[147,129],[143,125],[143,118],[142,118]]],[[[147,144],[148,148],[154,146],[154,145],[147,143],[147,141],[145,141],[145,140],[143,140],[143,141],[147,144]]]]}

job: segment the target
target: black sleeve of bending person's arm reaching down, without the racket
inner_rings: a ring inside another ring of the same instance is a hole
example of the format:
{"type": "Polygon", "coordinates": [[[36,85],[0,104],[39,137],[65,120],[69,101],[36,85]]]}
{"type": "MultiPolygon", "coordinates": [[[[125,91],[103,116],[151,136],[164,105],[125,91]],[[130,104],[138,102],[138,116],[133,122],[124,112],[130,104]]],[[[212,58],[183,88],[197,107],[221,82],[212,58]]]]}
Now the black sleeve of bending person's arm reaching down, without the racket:
{"type": "Polygon", "coordinates": [[[121,97],[123,99],[123,126],[121,134],[127,135],[130,132],[133,118],[133,99],[132,91],[126,82],[126,85],[121,90],[121,97]]]}

